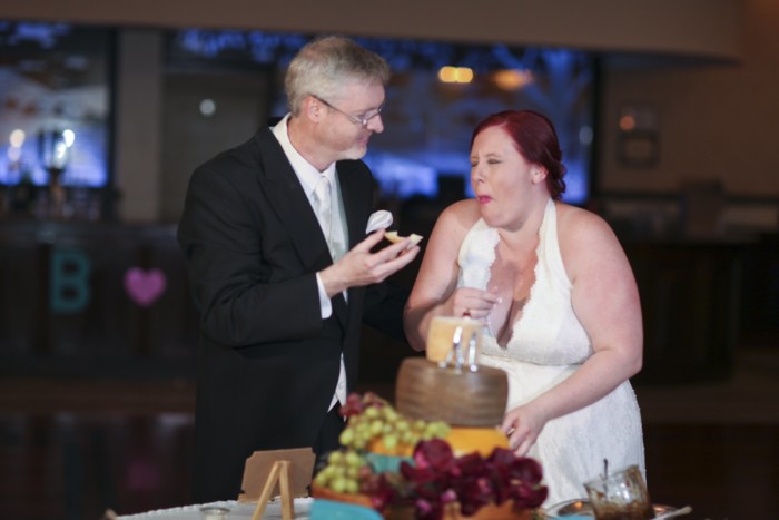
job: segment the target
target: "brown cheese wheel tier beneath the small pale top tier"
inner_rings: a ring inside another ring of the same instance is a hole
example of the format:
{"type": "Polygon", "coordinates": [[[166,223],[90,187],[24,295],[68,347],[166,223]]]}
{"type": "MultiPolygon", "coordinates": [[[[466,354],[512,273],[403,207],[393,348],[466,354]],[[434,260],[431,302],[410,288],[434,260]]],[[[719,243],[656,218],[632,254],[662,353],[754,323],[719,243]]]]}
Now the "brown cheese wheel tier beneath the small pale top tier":
{"type": "Polygon", "coordinates": [[[452,426],[496,426],[507,399],[509,379],[502,370],[441,367],[423,357],[403,360],[395,385],[395,408],[403,415],[452,426]]]}

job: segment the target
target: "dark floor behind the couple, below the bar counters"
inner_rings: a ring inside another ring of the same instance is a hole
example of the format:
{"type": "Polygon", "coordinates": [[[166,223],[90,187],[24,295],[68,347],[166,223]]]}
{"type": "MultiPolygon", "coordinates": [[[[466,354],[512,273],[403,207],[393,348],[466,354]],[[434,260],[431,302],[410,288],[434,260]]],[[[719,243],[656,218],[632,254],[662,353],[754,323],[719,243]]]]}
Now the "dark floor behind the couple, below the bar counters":
{"type": "MultiPolygon", "coordinates": [[[[650,494],[686,517],[777,518],[779,349],[720,383],[637,387],[650,494]]],[[[0,518],[97,520],[190,503],[189,381],[0,380],[0,518]]]]}

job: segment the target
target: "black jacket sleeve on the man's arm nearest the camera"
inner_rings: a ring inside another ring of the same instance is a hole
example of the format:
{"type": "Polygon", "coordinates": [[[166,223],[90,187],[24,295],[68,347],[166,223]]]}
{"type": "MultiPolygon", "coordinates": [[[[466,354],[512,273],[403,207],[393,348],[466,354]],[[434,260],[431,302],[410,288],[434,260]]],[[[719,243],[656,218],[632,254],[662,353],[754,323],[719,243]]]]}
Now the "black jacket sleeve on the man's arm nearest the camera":
{"type": "Polygon", "coordinates": [[[290,265],[294,254],[268,235],[276,223],[266,222],[256,178],[236,170],[229,158],[195,170],[178,227],[201,333],[234,347],[313,337],[322,331],[315,273],[290,265]]]}

